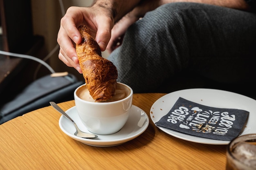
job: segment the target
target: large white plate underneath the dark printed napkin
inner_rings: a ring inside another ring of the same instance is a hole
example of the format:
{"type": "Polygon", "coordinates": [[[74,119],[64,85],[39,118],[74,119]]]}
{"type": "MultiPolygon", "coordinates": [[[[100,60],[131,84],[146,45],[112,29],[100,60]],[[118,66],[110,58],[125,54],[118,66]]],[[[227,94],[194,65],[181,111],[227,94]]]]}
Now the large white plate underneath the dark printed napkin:
{"type": "MultiPolygon", "coordinates": [[[[256,133],[256,100],[237,93],[206,88],[175,91],[159,98],[150,109],[150,117],[154,124],[171,110],[179,97],[205,106],[247,110],[249,111],[249,118],[245,129],[240,135],[256,133]]],[[[195,137],[161,127],[159,127],[159,129],[174,137],[196,143],[215,145],[229,144],[229,141],[195,137]]]]}

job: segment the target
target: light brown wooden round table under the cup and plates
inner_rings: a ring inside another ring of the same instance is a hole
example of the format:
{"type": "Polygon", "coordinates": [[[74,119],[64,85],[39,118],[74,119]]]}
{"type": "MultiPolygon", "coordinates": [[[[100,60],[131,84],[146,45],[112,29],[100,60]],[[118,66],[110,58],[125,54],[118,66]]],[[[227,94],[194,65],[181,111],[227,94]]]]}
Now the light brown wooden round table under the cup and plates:
{"type": "MultiPolygon", "coordinates": [[[[133,104],[150,117],[152,104],[164,94],[134,94],[133,104]]],[[[58,104],[64,110],[74,101],[58,104]]],[[[0,125],[1,170],[225,170],[226,146],[184,141],[159,130],[150,119],[139,137],[119,146],[94,147],[61,131],[61,114],[52,106],[0,125]]]]}

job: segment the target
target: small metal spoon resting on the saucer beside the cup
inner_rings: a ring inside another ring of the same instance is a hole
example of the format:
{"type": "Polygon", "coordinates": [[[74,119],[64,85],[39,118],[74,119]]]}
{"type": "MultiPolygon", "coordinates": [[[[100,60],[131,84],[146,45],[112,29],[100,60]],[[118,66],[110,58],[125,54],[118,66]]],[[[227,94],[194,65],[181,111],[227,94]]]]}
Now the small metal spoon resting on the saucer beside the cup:
{"type": "Polygon", "coordinates": [[[54,102],[50,102],[50,104],[52,105],[53,108],[55,108],[59,113],[61,113],[63,116],[67,117],[67,119],[69,119],[75,126],[76,128],[76,132],[74,133],[74,135],[78,136],[78,137],[82,137],[82,138],[88,138],[88,139],[93,139],[93,138],[96,138],[98,137],[97,135],[94,135],[94,134],[91,134],[91,133],[86,133],[86,132],[83,132],[81,131],[76,123],[71,119],[71,117],[69,117],[67,115],[67,113],[65,113],[56,103],[54,102]]]}

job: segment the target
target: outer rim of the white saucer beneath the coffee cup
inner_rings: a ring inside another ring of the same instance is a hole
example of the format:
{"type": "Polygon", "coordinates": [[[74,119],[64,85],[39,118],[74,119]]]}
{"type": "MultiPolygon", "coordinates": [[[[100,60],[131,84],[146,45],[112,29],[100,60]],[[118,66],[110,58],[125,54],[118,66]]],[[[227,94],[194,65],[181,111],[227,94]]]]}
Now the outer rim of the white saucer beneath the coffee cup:
{"type": "MultiPolygon", "coordinates": [[[[127,141],[130,141],[132,139],[135,139],[136,137],[138,137],[139,135],[141,135],[143,132],[146,131],[146,129],[149,126],[149,117],[146,114],[146,112],[144,110],[142,110],[141,108],[139,108],[138,106],[132,105],[131,109],[137,109],[138,111],[141,111],[144,113],[145,119],[146,119],[146,124],[144,124],[143,126],[141,126],[141,128],[139,130],[137,130],[136,133],[134,133],[131,136],[128,137],[124,137],[124,138],[120,138],[120,139],[110,139],[110,140],[95,140],[95,139],[86,139],[86,138],[81,138],[81,137],[77,137],[74,134],[71,134],[70,132],[67,132],[64,128],[63,128],[63,119],[65,119],[65,117],[63,115],[61,115],[61,117],[59,118],[59,127],[61,128],[61,130],[69,137],[71,137],[72,139],[75,139],[77,141],[82,142],[83,144],[87,144],[90,146],[98,146],[98,147],[108,147],[108,146],[117,146],[120,144],[124,144],[127,141]]],[[[69,108],[68,110],[66,110],[66,113],[69,115],[71,114],[70,112],[76,112],[76,106],[73,106],[71,108],[69,108]]],[[[74,113],[73,113],[74,114],[74,113]]],[[[129,118],[128,118],[129,119],[129,118]]],[[[72,122],[70,121],[70,124],[72,124],[72,122]]],[[[73,125],[72,125],[73,126],[73,125]]],[[[85,128],[85,126],[84,126],[85,128]]],[[[118,133],[118,132],[117,132],[118,133]]],[[[115,133],[116,134],[116,133],[115,133]]],[[[111,134],[113,135],[113,134],[111,134]]],[[[98,136],[106,136],[106,135],[98,135],[98,136]]]]}

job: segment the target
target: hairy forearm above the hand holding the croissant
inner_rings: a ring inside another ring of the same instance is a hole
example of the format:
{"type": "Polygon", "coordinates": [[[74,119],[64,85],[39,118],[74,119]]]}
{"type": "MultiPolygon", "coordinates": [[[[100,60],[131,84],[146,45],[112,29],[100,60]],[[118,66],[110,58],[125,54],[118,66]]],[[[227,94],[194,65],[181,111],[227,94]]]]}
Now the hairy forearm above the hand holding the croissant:
{"type": "Polygon", "coordinates": [[[120,20],[126,13],[130,12],[140,0],[94,0],[93,6],[108,9],[115,21],[120,20]]]}

